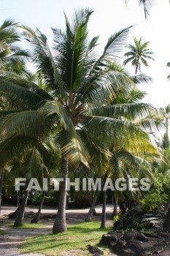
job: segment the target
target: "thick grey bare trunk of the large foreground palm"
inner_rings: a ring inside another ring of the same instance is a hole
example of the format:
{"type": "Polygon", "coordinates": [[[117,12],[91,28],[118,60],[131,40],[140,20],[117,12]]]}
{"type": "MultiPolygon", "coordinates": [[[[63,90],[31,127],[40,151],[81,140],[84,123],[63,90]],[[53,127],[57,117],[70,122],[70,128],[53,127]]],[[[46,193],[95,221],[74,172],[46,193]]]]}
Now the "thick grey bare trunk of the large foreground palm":
{"type": "Polygon", "coordinates": [[[53,233],[63,233],[66,228],[66,178],[68,176],[68,161],[63,158],[62,160],[62,178],[60,198],[58,204],[58,213],[53,225],[53,233]]]}

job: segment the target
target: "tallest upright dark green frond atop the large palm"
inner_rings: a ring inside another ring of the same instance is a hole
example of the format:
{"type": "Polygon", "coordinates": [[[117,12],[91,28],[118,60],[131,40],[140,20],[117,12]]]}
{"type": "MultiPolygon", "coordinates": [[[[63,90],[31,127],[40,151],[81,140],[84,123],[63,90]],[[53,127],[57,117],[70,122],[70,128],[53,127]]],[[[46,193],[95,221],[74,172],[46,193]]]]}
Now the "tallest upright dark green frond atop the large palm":
{"type": "MultiPolygon", "coordinates": [[[[66,19],[66,32],[54,31],[54,49],[56,54],[57,67],[60,70],[61,78],[70,94],[74,93],[82,79],[87,75],[89,69],[89,55],[96,45],[96,40],[88,43],[88,20],[92,10],[85,9],[74,12],[72,23],[66,19]]],[[[69,102],[72,101],[70,95],[69,102]]]]}

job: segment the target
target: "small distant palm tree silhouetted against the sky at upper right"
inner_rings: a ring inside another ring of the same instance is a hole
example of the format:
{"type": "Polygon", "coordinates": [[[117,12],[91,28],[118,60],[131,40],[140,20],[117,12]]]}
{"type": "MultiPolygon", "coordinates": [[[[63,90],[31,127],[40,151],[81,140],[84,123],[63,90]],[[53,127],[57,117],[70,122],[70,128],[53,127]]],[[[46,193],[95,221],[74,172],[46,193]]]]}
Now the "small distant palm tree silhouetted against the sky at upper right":
{"type": "Polygon", "coordinates": [[[130,51],[125,53],[124,56],[127,57],[127,59],[125,59],[123,63],[126,65],[131,62],[132,66],[135,67],[135,75],[137,74],[138,70],[141,73],[142,64],[145,67],[149,67],[146,59],[154,61],[152,58],[153,52],[148,48],[149,43],[150,42],[142,43],[142,37],[140,37],[139,40],[134,37],[134,45],[127,45],[127,48],[130,51]]]}

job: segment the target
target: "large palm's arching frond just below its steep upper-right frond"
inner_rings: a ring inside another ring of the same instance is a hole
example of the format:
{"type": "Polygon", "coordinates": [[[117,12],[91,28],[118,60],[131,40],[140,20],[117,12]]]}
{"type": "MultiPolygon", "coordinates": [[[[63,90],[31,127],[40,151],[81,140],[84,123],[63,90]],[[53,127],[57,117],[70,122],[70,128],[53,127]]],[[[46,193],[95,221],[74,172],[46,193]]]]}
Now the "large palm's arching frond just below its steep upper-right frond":
{"type": "Polygon", "coordinates": [[[98,105],[106,105],[116,97],[117,91],[134,84],[128,72],[117,61],[107,60],[107,68],[97,75],[85,78],[85,81],[79,90],[74,101],[74,105],[88,103],[91,108],[98,105]]]}

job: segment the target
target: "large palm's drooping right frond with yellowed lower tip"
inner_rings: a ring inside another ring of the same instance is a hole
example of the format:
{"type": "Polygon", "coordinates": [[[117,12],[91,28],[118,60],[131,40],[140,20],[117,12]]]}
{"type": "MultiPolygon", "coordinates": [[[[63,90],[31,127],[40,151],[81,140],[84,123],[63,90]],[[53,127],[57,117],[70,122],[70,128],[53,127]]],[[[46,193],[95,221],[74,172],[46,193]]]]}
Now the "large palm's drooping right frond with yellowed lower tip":
{"type": "Polygon", "coordinates": [[[158,153],[157,148],[136,124],[122,119],[103,116],[85,116],[83,124],[90,136],[98,138],[111,149],[113,146],[122,146],[127,151],[158,153]]]}

